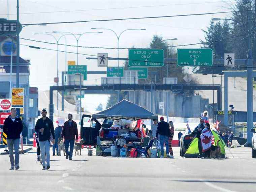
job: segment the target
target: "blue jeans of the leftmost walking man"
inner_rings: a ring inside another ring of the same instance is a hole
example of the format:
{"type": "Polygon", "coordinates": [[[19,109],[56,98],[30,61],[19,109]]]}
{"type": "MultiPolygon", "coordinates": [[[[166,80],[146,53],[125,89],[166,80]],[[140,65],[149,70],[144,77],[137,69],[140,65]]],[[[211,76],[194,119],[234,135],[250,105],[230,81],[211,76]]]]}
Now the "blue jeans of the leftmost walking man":
{"type": "Polygon", "coordinates": [[[15,166],[18,166],[19,159],[20,159],[20,154],[19,154],[20,139],[7,139],[7,145],[9,150],[11,166],[14,167],[13,147],[15,152],[15,166]]]}

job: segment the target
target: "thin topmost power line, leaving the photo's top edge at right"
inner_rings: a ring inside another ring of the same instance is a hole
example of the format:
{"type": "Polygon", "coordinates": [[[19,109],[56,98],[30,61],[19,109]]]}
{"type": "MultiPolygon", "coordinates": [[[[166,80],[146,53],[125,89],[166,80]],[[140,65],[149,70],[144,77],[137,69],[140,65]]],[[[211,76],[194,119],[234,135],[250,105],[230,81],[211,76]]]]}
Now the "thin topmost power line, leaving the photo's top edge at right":
{"type": "MultiPolygon", "coordinates": [[[[117,9],[133,9],[133,8],[151,8],[151,7],[165,7],[165,6],[175,6],[175,5],[197,5],[197,4],[209,4],[209,3],[223,3],[230,2],[229,1],[211,1],[211,2],[200,2],[200,3],[179,3],[179,4],[167,4],[167,5],[149,5],[149,6],[132,6],[132,7],[114,7],[114,8],[96,8],[96,9],[80,9],[80,10],[64,10],[64,11],[43,11],[43,12],[27,12],[20,13],[23,14],[40,14],[40,13],[63,13],[63,12],[81,12],[81,11],[100,11],[100,10],[117,10],[117,9]]],[[[7,14],[0,14],[7,15],[7,14]]],[[[16,15],[16,13],[12,13],[9,15],[16,15]]]]}

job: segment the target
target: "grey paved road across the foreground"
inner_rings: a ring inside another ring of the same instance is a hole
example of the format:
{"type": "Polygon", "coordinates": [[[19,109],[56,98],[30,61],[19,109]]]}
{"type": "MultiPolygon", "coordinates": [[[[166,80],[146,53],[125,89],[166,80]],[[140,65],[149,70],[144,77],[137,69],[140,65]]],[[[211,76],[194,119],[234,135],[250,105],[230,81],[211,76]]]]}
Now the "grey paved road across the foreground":
{"type": "Polygon", "coordinates": [[[10,171],[0,156],[2,191],[255,191],[256,159],[250,148],[227,151],[227,159],[174,159],[51,156],[51,169],[41,170],[35,150],[21,155],[20,170],[10,171]]]}

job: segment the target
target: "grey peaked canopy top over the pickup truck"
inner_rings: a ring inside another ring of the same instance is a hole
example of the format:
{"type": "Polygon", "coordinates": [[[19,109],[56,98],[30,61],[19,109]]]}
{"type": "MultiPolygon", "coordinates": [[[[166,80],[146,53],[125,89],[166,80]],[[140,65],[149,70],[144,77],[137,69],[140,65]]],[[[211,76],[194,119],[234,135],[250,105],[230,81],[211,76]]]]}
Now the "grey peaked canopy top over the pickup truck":
{"type": "Polygon", "coordinates": [[[92,118],[111,120],[129,119],[134,121],[139,119],[158,119],[158,116],[147,109],[124,99],[106,110],[93,114],[92,118]]]}

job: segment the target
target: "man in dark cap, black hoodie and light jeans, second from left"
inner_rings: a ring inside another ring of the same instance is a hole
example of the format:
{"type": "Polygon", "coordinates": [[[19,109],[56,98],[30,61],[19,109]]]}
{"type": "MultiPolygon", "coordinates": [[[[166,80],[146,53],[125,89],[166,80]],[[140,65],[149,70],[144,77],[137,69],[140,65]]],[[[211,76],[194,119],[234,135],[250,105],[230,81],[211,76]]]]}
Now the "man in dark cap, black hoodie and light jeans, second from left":
{"type": "Polygon", "coordinates": [[[50,169],[50,140],[53,137],[53,144],[55,143],[55,134],[53,122],[46,117],[47,111],[43,109],[41,111],[42,118],[38,119],[35,126],[35,131],[38,134],[39,146],[41,150],[41,160],[43,164],[43,170],[50,169]],[[45,166],[45,154],[46,154],[46,166],[45,166]]]}

